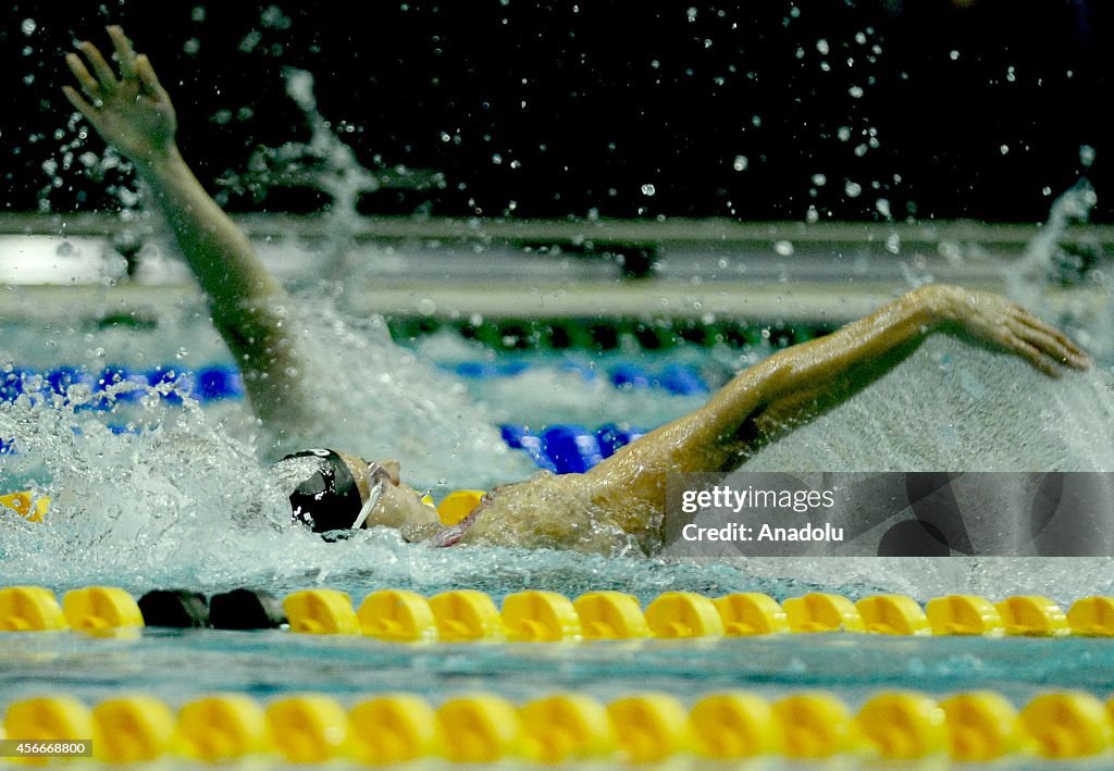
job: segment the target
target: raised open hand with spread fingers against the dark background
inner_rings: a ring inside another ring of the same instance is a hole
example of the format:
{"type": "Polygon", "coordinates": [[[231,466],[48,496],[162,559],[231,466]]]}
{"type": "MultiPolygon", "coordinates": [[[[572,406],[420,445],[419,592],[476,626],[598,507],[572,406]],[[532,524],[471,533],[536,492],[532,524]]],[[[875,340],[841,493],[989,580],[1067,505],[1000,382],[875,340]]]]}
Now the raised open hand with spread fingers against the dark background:
{"type": "Polygon", "coordinates": [[[157,163],[175,149],[178,121],[174,105],[159,85],[150,60],[136,55],[124,30],[109,27],[108,37],[116,49],[120,77],[116,77],[97,47],[85,41],[78,45],[78,50],[85,55],[88,67],[77,53],[66,55],[66,64],[85,97],[72,86],[63,86],[62,91],[105,141],[136,164],[157,163]]]}

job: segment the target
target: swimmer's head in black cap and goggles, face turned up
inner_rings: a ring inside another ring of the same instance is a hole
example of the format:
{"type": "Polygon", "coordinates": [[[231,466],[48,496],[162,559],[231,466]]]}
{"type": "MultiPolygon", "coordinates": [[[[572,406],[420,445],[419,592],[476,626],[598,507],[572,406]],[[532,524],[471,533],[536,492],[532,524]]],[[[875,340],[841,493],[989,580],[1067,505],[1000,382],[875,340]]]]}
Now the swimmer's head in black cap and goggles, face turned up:
{"type": "Polygon", "coordinates": [[[401,527],[437,519],[432,507],[399,479],[398,461],[365,461],[335,450],[286,456],[275,466],[292,488],[294,520],[314,533],[373,525],[401,527]]]}

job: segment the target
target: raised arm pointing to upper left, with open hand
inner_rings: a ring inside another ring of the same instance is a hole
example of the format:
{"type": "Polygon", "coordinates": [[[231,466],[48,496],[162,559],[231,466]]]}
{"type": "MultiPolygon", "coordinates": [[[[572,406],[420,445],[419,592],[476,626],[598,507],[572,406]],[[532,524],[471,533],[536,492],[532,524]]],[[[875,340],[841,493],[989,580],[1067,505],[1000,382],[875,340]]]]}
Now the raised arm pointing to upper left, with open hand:
{"type": "Polygon", "coordinates": [[[85,97],[66,86],[70,104],[97,133],[136,166],[166,215],[190,270],[208,296],[213,322],[244,371],[245,387],[263,420],[290,419],[297,371],[283,333],[289,296],[251,242],[209,197],[183,159],[174,136],[169,95],[145,55],[136,55],[119,27],[109,27],[120,77],[91,42],[82,61],[66,61],[85,97]]]}

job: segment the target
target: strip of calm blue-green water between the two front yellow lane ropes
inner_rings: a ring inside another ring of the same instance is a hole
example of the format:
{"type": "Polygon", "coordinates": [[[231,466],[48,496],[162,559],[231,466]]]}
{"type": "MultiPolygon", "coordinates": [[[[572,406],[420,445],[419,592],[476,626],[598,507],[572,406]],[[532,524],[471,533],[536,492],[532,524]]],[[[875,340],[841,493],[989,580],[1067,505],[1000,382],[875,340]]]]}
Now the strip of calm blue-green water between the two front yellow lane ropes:
{"type": "Polygon", "coordinates": [[[408,645],[289,632],[148,630],[136,640],[0,635],[6,700],[65,689],[95,703],[120,691],[180,703],[228,691],[343,701],[413,692],[437,703],[489,690],[515,702],[560,690],[600,700],[658,690],[684,701],[731,689],[778,699],[830,690],[850,704],[881,690],[941,696],[988,689],[1023,704],[1049,689],[1114,692],[1105,640],[886,637],[823,634],[712,641],[408,645]]]}

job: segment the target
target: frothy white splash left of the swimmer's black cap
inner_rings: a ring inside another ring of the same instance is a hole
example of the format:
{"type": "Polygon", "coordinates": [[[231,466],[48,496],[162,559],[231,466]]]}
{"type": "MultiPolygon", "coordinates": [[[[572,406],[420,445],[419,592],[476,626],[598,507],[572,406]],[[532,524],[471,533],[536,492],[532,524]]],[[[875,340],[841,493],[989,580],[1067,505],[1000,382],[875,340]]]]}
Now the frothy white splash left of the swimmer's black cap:
{"type": "Polygon", "coordinates": [[[0,436],[17,450],[2,457],[0,479],[49,495],[50,511],[41,526],[0,514],[6,573],[50,585],[176,568],[201,579],[289,529],[290,506],[253,448],[188,398],[169,404],[170,384],[104,393],[80,384],[65,396],[35,386],[0,403],[0,436]],[[128,430],[116,433],[106,417],[125,410],[128,430]]]}

